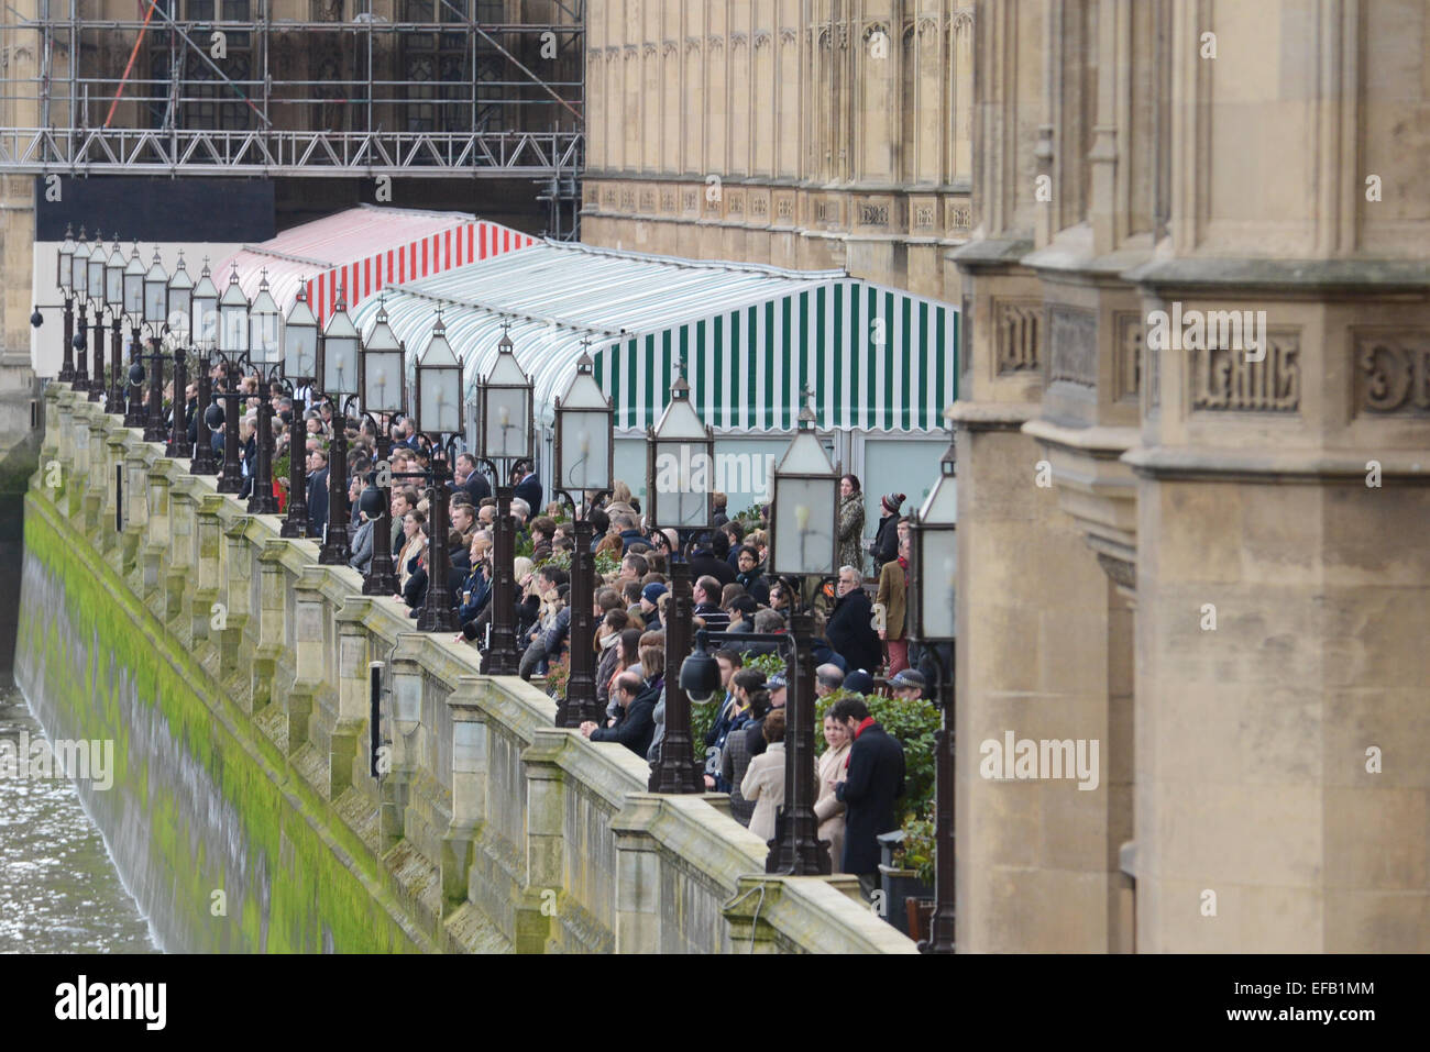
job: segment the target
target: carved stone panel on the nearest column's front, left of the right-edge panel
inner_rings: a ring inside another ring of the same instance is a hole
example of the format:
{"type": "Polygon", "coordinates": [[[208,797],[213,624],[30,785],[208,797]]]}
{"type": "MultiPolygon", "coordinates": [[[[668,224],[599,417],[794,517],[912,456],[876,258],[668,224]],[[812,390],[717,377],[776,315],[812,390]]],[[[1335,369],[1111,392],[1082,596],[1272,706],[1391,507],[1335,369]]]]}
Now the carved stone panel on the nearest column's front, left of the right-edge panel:
{"type": "MultiPolygon", "coordinates": [[[[1170,352],[1167,352],[1170,353],[1170,352]]],[[[1301,333],[1267,333],[1266,357],[1248,362],[1244,350],[1190,350],[1191,412],[1296,413],[1301,407],[1301,333]]]]}

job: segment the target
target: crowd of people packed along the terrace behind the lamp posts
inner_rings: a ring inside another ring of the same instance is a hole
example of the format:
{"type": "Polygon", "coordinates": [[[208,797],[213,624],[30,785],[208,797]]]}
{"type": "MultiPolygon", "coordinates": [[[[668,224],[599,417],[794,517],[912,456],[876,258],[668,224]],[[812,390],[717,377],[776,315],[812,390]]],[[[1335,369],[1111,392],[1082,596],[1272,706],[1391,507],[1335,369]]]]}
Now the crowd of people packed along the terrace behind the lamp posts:
{"type": "MultiPolygon", "coordinates": [[[[239,456],[246,497],[256,476],[259,377],[239,380],[239,456]]],[[[214,390],[227,377],[213,370],[214,390]]],[[[275,384],[273,463],[295,450],[305,459],[309,536],[322,537],[329,525],[330,462],[335,429],[345,427],[346,463],[340,466],[350,509],[350,565],[363,575],[373,553],[388,545],[398,576],[395,599],[416,617],[432,589],[432,493],[428,470],[433,450],[415,433],[409,417],[390,427],[390,487],[378,486],[378,435],[370,420],[340,420],[333,403],[309,392],[296,397],[275,384]],[[376,536],[383,502],[389,500],[390,533],[376,536]]],[[[189,437],[207,432],[197,412],[196,384],[186,392],[189,437]]],[[[216,456],[223,453],[222,429],[207,435],[216,456]]],[[[672,616],[671,572],[675,562],[689,565],[694,582],[691,629],[722,633],[714,643],[724,696],[714,726],[696,746],[704,749],[705,788],[728,793],[734,818],[764,839],[775,836],[775,818],[785,798],[785,693],[782,673],[766,676],[748,659],[771,653],[778,642],[739,640],[741,635],[779,636],[789,632],[791,616],[805,596],[798,582],[766,573],[769,535],[765,520],[729,517],[724,495],[715,495],[714,529],[688,545],[672,529],[646,529],[641,503],[631,487],[615,483],[612,492],[585,495],[578,509],[593,527],[591,552],[598,566],[592,579],[589,639],[572,637],[571,556],[576,532],[558,503],[542,505],[542,486],[529,462],[513,465],[511,512],[516,526],[513,576],[516,596],[511,620],[516,625],[519,673],[543,676],[569,662],[571,647],[591,647],[595,665],[601,720],[581,726],[593,742],[616,742],[644,759],[659,759],[665,732],[665,629],[672,616]],[[605,566],[605,572],[601,572],[605,566]]],[[[287,503],[287,472],[273,472],[280,507],[287,503]]],[[[907,640],[908,523],[907,497],[888,493],[871,539],[864,530],[864,493],[859,480],[839,480],[838,553],[835,582],[814,597],[817,626],[814,655],[817,695],[839,692],[824,718],[825,750],[809,772],[815,788],[819,838],[831,845],[834,872],[859,876],[874,886],[879,850],[877,836],[898,828],[895,800],[904,790],[904,753],[869,716],[864,700],[885,680],[897,696],[927,695],[930,655],[907,640]],[[872,573],[869,573],[872,570],[872,573]],[[912,652],[911,652],[912,650],[912,652]]],[[[496,499],[488,479],[469,453],[452,463],[446,507],[449,567],[439,602],[449,605],[462,630],[458,636],[483,653],[492,645],[496,499]]],[[[589,565],[589,563],[588,563],[589,565]]],[[[676,675],[678,669],[669,670],[676,675]]]]}

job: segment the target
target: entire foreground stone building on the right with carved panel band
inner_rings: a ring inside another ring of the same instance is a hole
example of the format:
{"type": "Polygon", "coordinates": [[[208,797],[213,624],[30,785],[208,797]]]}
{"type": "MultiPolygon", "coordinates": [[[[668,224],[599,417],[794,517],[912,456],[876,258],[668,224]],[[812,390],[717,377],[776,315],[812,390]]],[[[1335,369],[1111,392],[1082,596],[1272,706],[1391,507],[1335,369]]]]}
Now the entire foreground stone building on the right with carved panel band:
{"type": "Polygon", "coordinates": [[[1430,951],[1430,4],[974,23],[958,946],[1430,951]]]}

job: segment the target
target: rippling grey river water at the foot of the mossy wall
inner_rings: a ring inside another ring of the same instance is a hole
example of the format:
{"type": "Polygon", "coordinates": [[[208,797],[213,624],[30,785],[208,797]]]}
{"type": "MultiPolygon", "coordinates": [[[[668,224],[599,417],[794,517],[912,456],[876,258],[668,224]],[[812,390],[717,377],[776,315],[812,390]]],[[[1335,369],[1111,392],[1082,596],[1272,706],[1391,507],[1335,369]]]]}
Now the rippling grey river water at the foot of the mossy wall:
{"type": "MultiPolygon", "coordinates": [[[[44,732],[19,688],[0,688],[0,739],[44,732]]],[[[104,838],[63,778],[0,770],[0,953],[156,953],[104,838]]]]}

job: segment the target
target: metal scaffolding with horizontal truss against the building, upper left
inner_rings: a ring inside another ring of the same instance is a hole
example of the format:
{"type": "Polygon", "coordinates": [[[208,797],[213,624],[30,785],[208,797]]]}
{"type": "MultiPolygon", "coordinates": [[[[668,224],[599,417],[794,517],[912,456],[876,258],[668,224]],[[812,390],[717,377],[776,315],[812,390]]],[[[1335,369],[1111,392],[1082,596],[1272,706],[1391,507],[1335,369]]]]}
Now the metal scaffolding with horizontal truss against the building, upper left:
{"type": "Polygon", "coordinates": [[[132,3],[7,4],[0,172],[529,176],[555,236],[579,209],[583,0],[137,0],[139,17],[103,17],[132,3]]]}

